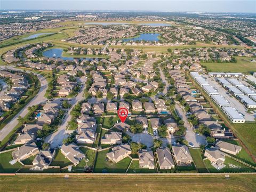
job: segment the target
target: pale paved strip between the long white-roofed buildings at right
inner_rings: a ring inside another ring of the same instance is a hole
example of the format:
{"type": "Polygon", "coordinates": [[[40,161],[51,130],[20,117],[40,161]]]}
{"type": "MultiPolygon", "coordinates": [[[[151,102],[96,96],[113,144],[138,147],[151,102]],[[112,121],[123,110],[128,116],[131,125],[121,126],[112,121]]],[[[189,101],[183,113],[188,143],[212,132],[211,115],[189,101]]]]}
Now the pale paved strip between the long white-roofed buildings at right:
{"type": "Polygon", "coordinates": [[[225,90],[218,82],[216,82],[214,78],[211,78],[208,75],[203,75],[203,77],[206,78],[211,86],[218,90],[220,95],[226,98],[231,107],[235,107],[240,113],[244,115],[245,121],[254,121],[256,115],[247,113],[247,108],[230,93],[228,93],[227,90],[225,90]]]}

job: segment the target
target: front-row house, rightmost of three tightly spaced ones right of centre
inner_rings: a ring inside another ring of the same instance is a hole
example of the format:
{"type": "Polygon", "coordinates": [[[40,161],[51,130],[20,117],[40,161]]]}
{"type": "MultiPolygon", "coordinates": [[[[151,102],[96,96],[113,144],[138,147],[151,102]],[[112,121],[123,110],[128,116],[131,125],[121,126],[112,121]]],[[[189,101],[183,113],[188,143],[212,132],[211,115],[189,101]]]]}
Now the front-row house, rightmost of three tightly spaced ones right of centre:
{"type": "Polygon", "coordinates": [[[191,162],[193,162],[193,158],[190,155],[187,146],[172,146],[172,150],[175,162],[177,164],[191,165],[191,162]]]}

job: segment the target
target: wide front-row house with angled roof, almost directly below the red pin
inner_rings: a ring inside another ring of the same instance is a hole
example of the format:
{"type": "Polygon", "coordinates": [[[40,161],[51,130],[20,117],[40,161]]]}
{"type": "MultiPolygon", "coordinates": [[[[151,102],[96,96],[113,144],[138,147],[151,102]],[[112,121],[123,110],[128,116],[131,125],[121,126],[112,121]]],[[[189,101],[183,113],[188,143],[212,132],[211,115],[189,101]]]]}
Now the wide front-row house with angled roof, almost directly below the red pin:
{"type": "Polygon", "coordinates": [[[128,157],[130,154],[132,154],[131,148],[126,143],[113,147],[112,151],[107,153],[107,157],[110,159],[110,161],[117,163],[124,159],[125,157],[128,157]]]}

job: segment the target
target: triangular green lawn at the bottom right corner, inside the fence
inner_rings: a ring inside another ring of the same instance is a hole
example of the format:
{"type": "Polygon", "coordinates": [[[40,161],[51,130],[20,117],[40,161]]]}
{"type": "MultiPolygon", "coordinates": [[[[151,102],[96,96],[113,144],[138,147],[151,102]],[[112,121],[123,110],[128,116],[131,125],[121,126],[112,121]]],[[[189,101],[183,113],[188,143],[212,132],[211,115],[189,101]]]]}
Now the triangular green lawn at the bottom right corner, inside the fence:
{"type": "Polygon", "coordinates": [[[229,157],[226,156],[225,162],[224,164],[226,165],[226,167],[224,167],[221,170],[217,170],[215,169],[215,167],[213,167],[211,165],[211,162],[208,159],[205,159],[204,161],[205,166],[207,167],[207,169],[210,171],[210,173],[223,173],[223,172],[255,172],[255,170],[251,169],[250,167],[247,167],[237,161],[235,161],[234,159],[231,159],[229,157]],[[238,166],[238,167],[232,167],[232,165],[238,166]]]}

